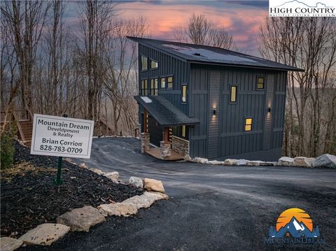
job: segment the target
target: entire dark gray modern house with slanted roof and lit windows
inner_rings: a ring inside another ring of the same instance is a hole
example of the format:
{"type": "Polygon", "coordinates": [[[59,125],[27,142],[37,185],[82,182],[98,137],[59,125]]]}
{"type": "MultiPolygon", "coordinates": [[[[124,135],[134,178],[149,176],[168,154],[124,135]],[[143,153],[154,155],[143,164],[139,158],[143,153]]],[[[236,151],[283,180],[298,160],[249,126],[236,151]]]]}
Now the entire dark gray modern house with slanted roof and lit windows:
{"type": "Polygon", "coordinates": [[[129,38],[139,43],[134,98],[143,152],[162,159],[281,156],[287,71],[301,69],[221,48],[129,38]]]}

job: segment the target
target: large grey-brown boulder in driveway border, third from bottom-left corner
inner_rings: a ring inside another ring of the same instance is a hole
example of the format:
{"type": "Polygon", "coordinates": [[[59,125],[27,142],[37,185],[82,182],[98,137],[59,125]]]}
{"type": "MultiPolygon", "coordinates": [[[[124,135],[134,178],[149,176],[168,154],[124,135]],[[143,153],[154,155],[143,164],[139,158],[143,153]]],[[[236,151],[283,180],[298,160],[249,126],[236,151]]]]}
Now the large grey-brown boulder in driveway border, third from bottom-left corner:
{"type": "Polygon", "coordinates": [[[71,227],[71,231],[89,231],[90,227],[104,221],[105,217],[92,206],[75,208],[57,217],[57,223],[71,227]]]}

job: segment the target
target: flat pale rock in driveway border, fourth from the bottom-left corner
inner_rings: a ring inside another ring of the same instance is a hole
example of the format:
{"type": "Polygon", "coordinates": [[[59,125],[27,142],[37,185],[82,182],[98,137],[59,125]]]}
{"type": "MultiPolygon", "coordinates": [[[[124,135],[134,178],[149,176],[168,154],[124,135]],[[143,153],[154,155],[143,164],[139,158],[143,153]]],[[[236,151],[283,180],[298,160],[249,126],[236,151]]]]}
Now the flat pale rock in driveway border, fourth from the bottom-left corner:
{"type": "Polygon", "coordinates": [[[128,217],[130,215],[135,215],[138,210],[137,206],[132,203],[110,203],[110,204],[102,204],[98,206],[98,210],[104,216],[124,216],[128,217]]]}

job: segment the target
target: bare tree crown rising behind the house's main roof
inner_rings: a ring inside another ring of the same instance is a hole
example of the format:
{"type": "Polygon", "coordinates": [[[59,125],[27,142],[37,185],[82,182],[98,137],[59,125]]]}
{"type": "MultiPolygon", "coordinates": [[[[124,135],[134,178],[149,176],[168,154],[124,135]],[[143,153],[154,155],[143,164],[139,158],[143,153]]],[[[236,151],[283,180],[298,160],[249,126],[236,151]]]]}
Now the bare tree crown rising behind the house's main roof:
{"type": "Polygon", "coordinates": [[[193,15],[187,27],[181,27],[174,33],[175,39],[182,43],[210,45],[224,49],[236,49],[232,36],[223,27],[210,22],[205,15],[193,15]]]}

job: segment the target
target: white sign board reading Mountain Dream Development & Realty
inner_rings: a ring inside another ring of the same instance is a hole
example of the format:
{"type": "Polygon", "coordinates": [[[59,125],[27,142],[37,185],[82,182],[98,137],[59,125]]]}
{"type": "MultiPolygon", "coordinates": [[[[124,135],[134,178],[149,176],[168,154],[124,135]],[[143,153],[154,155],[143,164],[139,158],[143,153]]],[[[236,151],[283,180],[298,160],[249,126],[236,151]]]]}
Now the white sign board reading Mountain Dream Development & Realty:
{"type": "Polygon", "coordinates": [[[31,155],[90,159],[94,121],[34,114],[31,155]]]}

